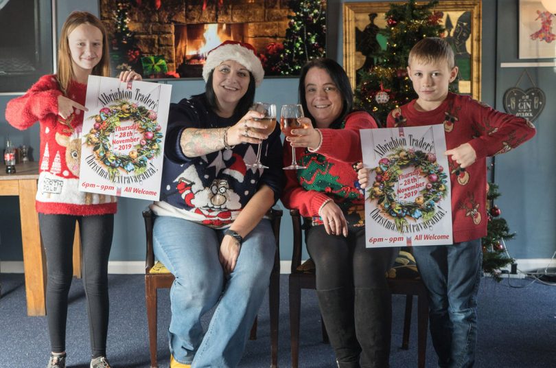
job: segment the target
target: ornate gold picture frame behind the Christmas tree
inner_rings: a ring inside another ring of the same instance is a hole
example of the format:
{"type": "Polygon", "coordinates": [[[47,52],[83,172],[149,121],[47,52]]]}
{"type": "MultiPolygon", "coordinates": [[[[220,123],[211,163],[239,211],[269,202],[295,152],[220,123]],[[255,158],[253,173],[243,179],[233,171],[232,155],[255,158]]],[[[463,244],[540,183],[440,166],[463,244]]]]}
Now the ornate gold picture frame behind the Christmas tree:
{"type": "MultiPolygon", "coordinates": [[[[367,2],[367,3],[344,3],[343,6],[343,30],[344,30],[344,68],[351,82],[351,87],[356,88],[356,70],[361,67],[364,62],[364,56],[356,51],[356,28],[363,31],[370,24],[369,14],[377,13],[373,19],[375,25],[379,28],[386,27],[384,15],[390,10],[390,3],[395,1],[367,2]]],[[[418,4],[423,4],[420,2],[418,4]]],[[[468,66],[462,69],[460,67],[459,89],[460,93],[471,95],[475,100],[480,100],[480,54],[481,54],[481,19],[482,6],[480,0],[458,0],[458,1],[440,1],[435,10],[443,12],[443,22],[450,16],[452,25],[456,27],[456,23],[462,19],[461,24],[469,27],[470,33],[465,43],[461,43],[463,51],[457,53],[461,56],[461,61],[468,66]],[[469,12],[469,13],[467,13],[469,12]],[[465,14],[465,15],[464,15],[465,14]],[[463,17],[462,17],[463,16],[463,17]],[[468,22],[470,20],[470,23],[468,22]],[[469,54],[467,56],[467,54],[469,54]],[[468,63],[468,65],[467,65],[468,63]],[[468,70],[467,70],[468,69],[468,70]],[[465,72],[465,77],[462,74],[465,72]]],[[[445,24],[445,23],[443,23],[445,24]]],[[[454,32],[455,33],[455,32],[454,32]]],[[[445,34],[450,36],[450,34],[445,34]]],[[[461,51],[461,50],[460,50],[461,51]]],[[[457,60],[456,60],[457,62],[457,60]]]]}

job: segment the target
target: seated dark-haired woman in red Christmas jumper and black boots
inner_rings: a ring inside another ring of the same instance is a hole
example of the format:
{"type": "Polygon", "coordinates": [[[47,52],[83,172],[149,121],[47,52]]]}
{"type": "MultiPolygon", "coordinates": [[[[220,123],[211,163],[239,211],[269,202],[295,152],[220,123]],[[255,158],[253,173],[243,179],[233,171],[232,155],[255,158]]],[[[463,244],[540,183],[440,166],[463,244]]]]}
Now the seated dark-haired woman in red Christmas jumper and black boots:
{"type": "MultiPolygon", "coordinates": [[[[389,367],[391,293],[386,271],[398,249],[365,247],[364,196],[355,165],[362,159],[360,129],[377,128],[366,112],[353,111],[345,71],[331,59],[301,70],[299,97],[307,128],[292,130],[301,170],[286,170],[281,198],[299,209],[308,229],[307,249],[316,266],[321,314],[338,367],[389,367]]],[[[291,148],[284,144],[284,163],[291,148]]]]}

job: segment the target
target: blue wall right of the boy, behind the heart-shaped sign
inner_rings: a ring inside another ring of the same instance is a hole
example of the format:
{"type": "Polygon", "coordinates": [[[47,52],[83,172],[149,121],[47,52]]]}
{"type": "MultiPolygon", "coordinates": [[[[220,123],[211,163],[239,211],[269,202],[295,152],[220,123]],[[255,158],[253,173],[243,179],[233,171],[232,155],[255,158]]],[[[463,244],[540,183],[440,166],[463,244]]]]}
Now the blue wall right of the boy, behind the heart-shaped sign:
{"type": "MultiPolygon", "coordinates": [[[[487,1],[483,1],[485,3],[487,1]]],[[[490,1],[488,1],[490,2],[490,1]]],[[[494,2],[494,1],[493,1],[494,2]]],[[[518,1],[498,0],[496,34],[496,108],[502,109],[502,97],[526,70],[536,87],[544,91],[546,106],[535,120],[537,135],[515,151],[496,157],[496,183],[500,185],[498,207],[517,237],[507,244],[512,257],[549,258],[556,251],[556,189],[554,141],[556,67],[555,59],[518,59],[518,1]],[[500,63],[551,62],[552,67],[500,67],[500,63]]],[[[483,22],[484,24],[484,22],[483,22]]],[[[555,29],[553,28],[553,32],[555,29]]],[[[484,38],[483,38],[484,41],[484,38]]],[[[533,87],[526,75],[519,87],[533,87]]],[[[483,84],[483,91],[485,87],[483,84]]]]}

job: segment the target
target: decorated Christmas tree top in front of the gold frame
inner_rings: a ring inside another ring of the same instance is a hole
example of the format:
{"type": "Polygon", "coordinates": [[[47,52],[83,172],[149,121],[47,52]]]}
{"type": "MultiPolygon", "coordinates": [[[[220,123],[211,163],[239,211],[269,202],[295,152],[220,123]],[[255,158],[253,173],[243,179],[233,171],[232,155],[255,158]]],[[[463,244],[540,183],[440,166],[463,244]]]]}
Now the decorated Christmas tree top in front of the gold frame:
{"type": "Polygon", "coordinates": [[[378,62],[373,67],[358,71],[355,105],[372,112],[383,125],[390,111],[417,97],[407,75],[407,59],[419,40],[443,34],[443,14],[433,10],[437,3],[392,3],[385,14],[388,26],[379,31],[388,40],[386,49],[375,55],[378,62]]]}

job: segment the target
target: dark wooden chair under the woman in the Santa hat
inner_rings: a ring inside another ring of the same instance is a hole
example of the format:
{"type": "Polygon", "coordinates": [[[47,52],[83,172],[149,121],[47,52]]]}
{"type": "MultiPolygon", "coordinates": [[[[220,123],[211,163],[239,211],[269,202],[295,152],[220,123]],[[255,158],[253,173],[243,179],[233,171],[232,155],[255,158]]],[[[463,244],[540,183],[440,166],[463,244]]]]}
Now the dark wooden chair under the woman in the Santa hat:
{"type": "MultiPolygon", "coordinates": [[[[270,209],[268,216],[272,222],[273,233],[276,238],[276,252],[273,271],[270,273],[270,286],[268,290],[270,309],[270,356],[271,368],[278,367],[278,317],[280,303],[280,221],[281,209],[270,209]]],[[[154,251],[152,247],[152,227],[154,225],[154,214],[150,209],[143,211],[145,220],[145,231],[147,239],[147,255],[145,266],[145,295],[147,303],[147,320],[149,328],[150,366],[157,365],[157,294],[160,288],[170,288],[174,282],[174,275],[161,264],[154,262],[154,251]]],[[[257,338],[257,319],[251,327],[251,340],[257,338]]]]}

